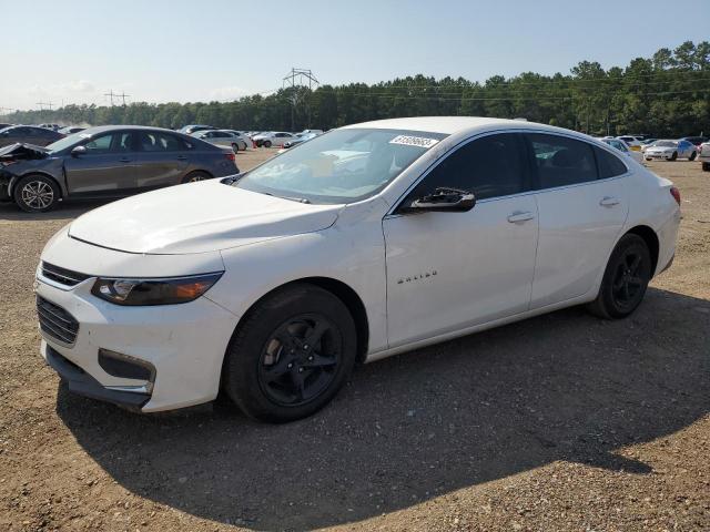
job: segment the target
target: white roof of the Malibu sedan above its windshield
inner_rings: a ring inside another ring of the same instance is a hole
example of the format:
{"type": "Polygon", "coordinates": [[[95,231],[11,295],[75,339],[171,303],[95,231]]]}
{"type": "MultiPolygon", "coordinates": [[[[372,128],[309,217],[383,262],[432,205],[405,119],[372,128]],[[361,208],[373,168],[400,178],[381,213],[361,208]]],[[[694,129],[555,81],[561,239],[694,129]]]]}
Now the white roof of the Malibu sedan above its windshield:
{"type": "Polygon", "coordinates": [[[375,120],[373,122],[363,122],[361,124],[346,125],[343,129],[361,127],[423,131],[447,135],[487,127],[548,130],[550,132],[564,131],[566,133],[569,133],[568,130],[562,130],[560,127],[555,127],[546,124],[538,124],[536,122],[527,122],[523,120],[490,119],[486,116],[416,116],[408,119],[375,120]]]}

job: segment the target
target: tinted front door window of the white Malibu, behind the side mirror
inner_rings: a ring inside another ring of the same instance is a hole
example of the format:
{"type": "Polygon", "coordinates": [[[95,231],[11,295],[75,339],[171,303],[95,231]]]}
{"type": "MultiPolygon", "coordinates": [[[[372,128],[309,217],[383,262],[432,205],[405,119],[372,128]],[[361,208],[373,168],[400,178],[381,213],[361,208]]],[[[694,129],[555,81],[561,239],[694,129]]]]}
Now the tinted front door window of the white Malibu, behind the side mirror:
{"type": "Polygon", "coordinates": [[[403,204],[409,205],[439,187],[473,192],[477,201],[526,192],[530,190],[526,167],[519,134],[484,136],[449,154],[414,187],[403,204]]]}

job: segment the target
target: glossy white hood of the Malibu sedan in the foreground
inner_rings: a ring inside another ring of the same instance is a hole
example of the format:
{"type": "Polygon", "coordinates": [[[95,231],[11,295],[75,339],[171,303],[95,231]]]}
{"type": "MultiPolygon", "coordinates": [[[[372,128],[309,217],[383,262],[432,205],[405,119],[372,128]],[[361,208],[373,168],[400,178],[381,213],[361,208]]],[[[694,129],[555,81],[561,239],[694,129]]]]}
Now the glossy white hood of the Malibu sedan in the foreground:
{"type": "Polygon", "coordinates": [[[303,204],[211,180],[99,207],[77,218],[69,235],[129,253],[205,253],[321,231],[333,225],[341,208],[303,204]]]}

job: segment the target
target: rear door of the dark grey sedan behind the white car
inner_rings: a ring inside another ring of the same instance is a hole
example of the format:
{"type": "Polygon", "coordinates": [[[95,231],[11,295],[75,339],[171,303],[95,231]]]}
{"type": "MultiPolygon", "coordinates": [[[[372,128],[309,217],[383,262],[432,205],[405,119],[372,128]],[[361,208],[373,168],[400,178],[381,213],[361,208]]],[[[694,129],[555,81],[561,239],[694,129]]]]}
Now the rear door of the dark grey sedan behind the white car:
{"type": "Polygon", "coordinates": [[[190,164],[187,143],[176,135],[161,131],[136,133],[136,186],[158,188],[181,183],[190,164]]]}

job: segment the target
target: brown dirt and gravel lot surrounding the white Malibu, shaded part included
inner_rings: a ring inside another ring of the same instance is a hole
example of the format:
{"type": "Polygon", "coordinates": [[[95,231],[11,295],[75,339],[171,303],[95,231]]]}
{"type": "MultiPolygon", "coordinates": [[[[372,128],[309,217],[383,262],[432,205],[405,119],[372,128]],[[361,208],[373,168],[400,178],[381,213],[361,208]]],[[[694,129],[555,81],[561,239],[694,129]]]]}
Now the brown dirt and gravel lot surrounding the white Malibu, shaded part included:
{"type": "Polygon", "coordinates": [[[95,204],[0,206],[0,530],[710,530],[710,174],[652,168],[683,222],[633,317],[572,308],[375,362],[287,426],[69,395],[32,280],[95,204]]]}

